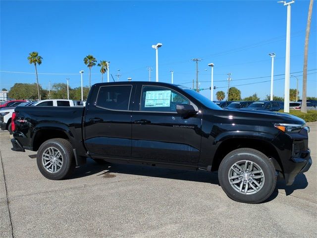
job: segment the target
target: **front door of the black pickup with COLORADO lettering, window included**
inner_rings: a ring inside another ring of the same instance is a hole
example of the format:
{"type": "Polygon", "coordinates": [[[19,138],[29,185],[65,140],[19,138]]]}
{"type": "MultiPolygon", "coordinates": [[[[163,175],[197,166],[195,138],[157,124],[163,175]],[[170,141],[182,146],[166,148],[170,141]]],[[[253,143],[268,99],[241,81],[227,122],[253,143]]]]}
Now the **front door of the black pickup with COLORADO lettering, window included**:
{"type": "Polygon", "coordinates": [[[140,84],[136,95],[139,101],[132,113],[132,157],[154,163],[198,163],[201,115],[183,118],[176,112],[177,104],[192,103],[162,86],[140,84]]]}

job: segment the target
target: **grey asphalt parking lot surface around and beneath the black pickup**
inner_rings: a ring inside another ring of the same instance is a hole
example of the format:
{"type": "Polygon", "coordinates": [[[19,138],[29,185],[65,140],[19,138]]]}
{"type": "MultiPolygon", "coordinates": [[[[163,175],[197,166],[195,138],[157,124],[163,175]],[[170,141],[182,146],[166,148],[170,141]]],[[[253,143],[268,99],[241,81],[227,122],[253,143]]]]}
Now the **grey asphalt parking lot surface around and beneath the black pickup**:
{"type": "Polygon", "coordinates": [[[262,204],[230,200],[217,175],[89,161],[71,179],[38,171],[32,151],[0,132],[0,238],[317,237],[317,123],[313,165],[262,204]]]}

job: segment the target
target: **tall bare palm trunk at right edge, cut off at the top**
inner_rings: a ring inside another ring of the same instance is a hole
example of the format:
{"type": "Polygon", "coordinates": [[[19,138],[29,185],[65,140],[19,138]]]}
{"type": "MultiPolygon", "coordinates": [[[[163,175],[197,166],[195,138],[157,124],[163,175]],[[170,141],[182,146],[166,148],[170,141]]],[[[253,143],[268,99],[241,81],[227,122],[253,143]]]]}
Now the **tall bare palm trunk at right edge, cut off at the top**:
{"type": "Polygon", "coordinates": [[[306,96],[307,96],[308,42],[309,42],[309,32],[311,30],[313,2],[314,2],[314,0],[311,0],[310,3],[309,3],[307,26],[306,26],[306,37],[305,37],[304,69],[303,69],[303,94],[302,94],[302,108],[301,108],[301,112],[303,112],[303,113],[307,113],[307,107],[306,107],[306,100],[307,99],[306,99],[306,96]]]}

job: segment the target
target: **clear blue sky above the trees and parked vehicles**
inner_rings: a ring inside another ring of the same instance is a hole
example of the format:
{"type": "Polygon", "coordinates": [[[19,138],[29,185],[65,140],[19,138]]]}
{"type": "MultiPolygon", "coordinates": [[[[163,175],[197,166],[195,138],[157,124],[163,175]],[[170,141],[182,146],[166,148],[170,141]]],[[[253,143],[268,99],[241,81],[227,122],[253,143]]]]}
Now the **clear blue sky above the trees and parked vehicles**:
{"type": "MultiPolygon", "coordinates": [[[[158,42],[159,81],[190,83],[196,80],[199,62],[201,88],[209,88],[214,63],[215,90],[226,92],[227,73],[231,85],[242,97],[253,93],[263,99],[270,92],[271,60],[276,54],[274,74],[285,72],[286,7],[275,0],[249,1],[2,1],[0,2],[0,70],[34,72],[28,54],[37,51],[43,57],[38,67],[43,88],[66,82],[80,86],[79,70],[85,70],[84,84],[89,84],[86,55],[110,61],[113,77],[120,69],[120,81],[148,80],[147,66],[152,66],[155,80],[155,50],[158,42]],[[206,69],[206,70],[205,70],[206,69]],[[265,77],[265,78],[256,78],[265,77]],[[246,78],[255,78],[240,80],[246,78]],[[218,82],[216,82],[218,81],[218,82]],[[224,88],[221,88],[224,87],[224,88]]],[[[302,73],[308,0],[292,4],[291,72],[298,75],[302,92],[302,73]]],[[[317,69],[317,17],[313,9],[308,69],[317,69]]],[[[92,68],[92,84],[101,81],[100,68],[92,68]]],[[[317,96],[317,70],[309,71],[308,96],[317,96]]],[[[106,74],[104,79],[106,78],[106,74]]],[[[111,76],[110,76],[111,78],[111,76]]],[[[115,77],[116,78],[116,77],[115,77]]],[[[284,76],[275,76],[274,95],[283,96],[284,76]]],[[[0,72],[0,87],[16,82],[34,83],[34,74],[0,72]]],[[[296,79],[291,78],[291,88],[296,79]]],[[[210,90],[202,91],[210,98],[210,90]]]]}

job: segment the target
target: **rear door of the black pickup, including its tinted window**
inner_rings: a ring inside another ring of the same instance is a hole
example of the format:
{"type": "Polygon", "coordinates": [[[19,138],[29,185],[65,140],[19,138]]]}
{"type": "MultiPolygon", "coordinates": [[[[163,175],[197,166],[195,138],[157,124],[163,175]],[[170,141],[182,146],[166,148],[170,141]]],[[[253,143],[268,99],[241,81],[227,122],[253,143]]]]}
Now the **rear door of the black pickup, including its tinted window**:
{"type": "Polygon", "coordinates": [[[94,157],[131,156],[131,114],[134,87],[95,86],[86,104],[85,145],[94,157]]]}

